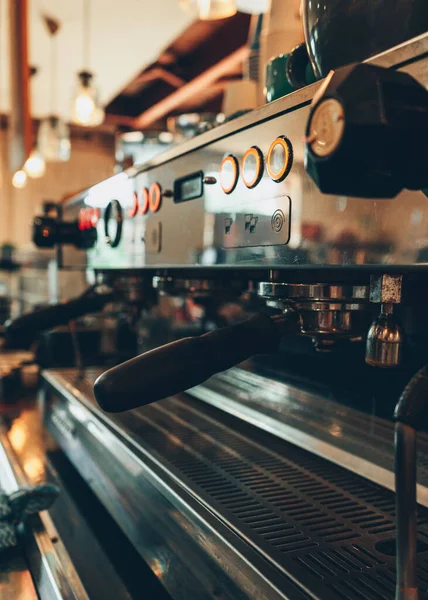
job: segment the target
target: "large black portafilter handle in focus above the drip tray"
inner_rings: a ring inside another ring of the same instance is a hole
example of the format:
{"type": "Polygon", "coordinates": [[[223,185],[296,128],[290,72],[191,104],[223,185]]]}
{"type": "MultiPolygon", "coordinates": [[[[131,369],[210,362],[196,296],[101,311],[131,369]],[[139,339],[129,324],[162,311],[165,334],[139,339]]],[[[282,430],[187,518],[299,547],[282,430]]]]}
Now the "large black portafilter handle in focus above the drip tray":
{"type": "Polygon", "coordinates": [[[275,352],[281,337],[296,333],[290,311],[257,314],[243,323],[184,338],[132,358],[98,377],[95,398],[106,412],[123,412],[178,394],[250,358],[275,352]]]}

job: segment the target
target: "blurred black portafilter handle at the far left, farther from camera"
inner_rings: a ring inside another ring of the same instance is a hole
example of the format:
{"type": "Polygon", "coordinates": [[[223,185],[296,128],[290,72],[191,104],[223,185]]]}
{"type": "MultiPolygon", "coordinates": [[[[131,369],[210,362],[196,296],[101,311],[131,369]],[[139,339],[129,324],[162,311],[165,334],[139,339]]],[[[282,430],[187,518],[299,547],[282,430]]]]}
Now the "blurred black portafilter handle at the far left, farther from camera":
{"type": "Polygon", "coordinates": [[[98,312],[113,300],[113,292],[98,293],[93,288],[81,296],[27,313],[5,323],[6,343],[9,348],[26,347],[42,331],[66,325],[85,314],[98,312]]]}

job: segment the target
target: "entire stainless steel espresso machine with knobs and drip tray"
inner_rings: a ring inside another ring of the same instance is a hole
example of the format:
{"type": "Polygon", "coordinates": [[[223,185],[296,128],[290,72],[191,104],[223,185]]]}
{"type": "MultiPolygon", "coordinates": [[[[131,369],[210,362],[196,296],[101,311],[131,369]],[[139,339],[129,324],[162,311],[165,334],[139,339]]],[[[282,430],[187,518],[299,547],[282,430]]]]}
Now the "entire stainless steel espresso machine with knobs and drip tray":
{"type": "Polygon", "coordinates": [[[428,598],[427,85],[425,34],[36,222],[139,307],[44,422],[172,598],[428,598]]]}

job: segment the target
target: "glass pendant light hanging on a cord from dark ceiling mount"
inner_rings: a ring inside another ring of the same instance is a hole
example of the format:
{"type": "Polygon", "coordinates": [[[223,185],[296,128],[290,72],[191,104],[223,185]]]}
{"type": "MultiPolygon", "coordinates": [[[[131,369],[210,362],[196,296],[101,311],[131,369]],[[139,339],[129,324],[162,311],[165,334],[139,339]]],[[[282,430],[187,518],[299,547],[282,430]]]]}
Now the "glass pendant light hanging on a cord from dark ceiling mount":
{"type": "Polygon", "coordinates": [[[42,119],[37,135],[37,147],[40,154],[48,162],[66,162],[70,158],[71,143],[68,125],[55,115],[57,108],[57,74],[58,49],[56,46],[58,21],[43,17],[51,38],[51,114],[42,119]]]}

